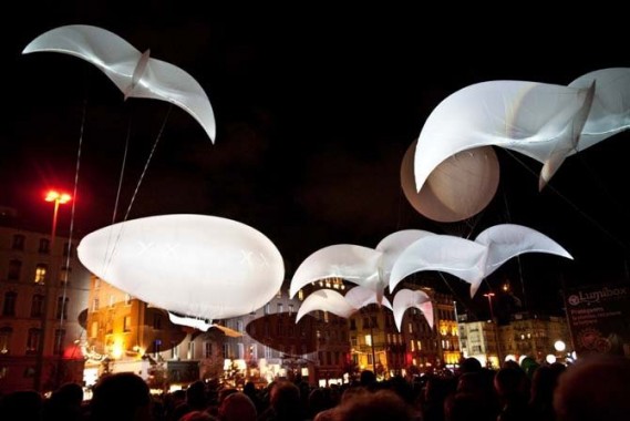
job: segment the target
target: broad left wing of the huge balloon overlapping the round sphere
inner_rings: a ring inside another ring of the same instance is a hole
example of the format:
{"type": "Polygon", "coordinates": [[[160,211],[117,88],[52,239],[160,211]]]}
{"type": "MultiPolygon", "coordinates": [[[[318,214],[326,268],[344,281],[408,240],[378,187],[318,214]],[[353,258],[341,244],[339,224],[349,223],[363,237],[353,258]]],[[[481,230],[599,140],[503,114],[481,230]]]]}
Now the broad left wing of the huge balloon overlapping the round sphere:
{"type": "Polygon", "coordinates": [[[585,123],[589,90],[489,81],[453,93],[433,110],[420,133],[414,156],[416,191],[440,163],[473,147],[500,146],[545,164],[558,142],[579,136],[575,127],[585,123]],[[457,124],[453,124],[455,116],[457,124]]]}

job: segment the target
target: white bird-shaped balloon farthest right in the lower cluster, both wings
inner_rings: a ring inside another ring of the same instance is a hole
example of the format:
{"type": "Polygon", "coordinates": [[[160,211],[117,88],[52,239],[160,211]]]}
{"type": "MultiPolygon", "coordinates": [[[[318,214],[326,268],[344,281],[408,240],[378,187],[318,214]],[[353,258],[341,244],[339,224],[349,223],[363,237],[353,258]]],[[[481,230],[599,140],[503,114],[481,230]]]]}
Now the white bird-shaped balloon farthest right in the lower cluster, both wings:
{"type": "Polygon", "coordinates": [[[475,240],[452,235],[426,236],[407,247],[395,261],[390,290],[413,273],[440,270],[471,284],[471,297],[474,297],[485,277],[524,253],[547,253],[572,259],[567,250],[546,235],[515,224],[489,227],[475,240]]]}

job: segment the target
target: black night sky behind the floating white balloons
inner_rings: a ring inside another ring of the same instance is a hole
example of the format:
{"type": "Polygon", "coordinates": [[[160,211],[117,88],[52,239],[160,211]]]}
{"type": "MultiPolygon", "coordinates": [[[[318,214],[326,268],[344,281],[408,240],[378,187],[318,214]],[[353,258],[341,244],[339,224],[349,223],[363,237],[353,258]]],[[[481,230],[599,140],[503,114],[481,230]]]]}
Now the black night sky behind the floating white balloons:
{"type": "MultiPolygon", "coordinates": [[[[443,99],[483,81],[568,84],[592,70],[630,66],[626,25],[609,22],[606,32],[593,33],[568,19],[561,28],[540,17],[463,24],[394,7],[341,13],[246,6],[202,11],[196,2],[187,8],[167,1],[118,10],[111,2],[50,3],[17,6],[0,43],[2,204],[43,227],[51,208],[41,192],[74,188],[80,140],[75,235],[112,222],[128,133],[120,220],[165,124],[130,218],[200,213],[239,220],[277,245],[288,277],[332,244],[374,247],[405,228],[474,237],[514,223],[557,240],[575,260],[521,255],[493,274],[485,289],[507,278],[520,294],[524,281],[530,306],[558,307],[561,281],[627,278],[627,133],[569,157],[543,192],[540,164],[496,150],[497,195],[462,223],[417,214],[400,185],[402,157],[443,99]],[[94,6],[101,3],[106,6],[94,6]],[[28,13],[33,8],[37,16],[28,13]],[[37,35],[71,23],[107,29],[190,73],[213,104],[216,143],[180,109],[166,119],[165,102],[124,102],[90,63],[59,53],[21,54],[37,35]],[[540,28],[545,33],[533,35],[540,28]]],[[[68,229],[70,210],[62,212],[60,229],[68,229]]]]}

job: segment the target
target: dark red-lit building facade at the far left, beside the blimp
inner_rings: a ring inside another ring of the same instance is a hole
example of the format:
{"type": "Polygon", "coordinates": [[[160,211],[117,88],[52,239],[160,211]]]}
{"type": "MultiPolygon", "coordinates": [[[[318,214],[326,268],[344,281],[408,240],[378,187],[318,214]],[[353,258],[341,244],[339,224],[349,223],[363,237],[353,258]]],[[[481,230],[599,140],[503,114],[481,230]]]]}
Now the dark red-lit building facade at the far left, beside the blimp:
{"type": "Polygon", "coordinates": [[[90,273],[75,243],[0,226],[0,392],[81,381],[90,273]],[[83,320],[84,322],[84,320],[83,320]]]}

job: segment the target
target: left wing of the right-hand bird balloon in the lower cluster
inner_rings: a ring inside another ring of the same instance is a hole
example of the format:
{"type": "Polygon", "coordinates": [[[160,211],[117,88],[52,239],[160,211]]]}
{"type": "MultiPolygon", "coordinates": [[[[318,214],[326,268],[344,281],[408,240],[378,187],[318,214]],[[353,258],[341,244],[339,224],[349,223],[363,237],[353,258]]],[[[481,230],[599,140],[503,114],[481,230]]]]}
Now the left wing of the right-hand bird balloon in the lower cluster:
{"type": "Polygon", "coordinates": [[[473,284],[484,277],[487,247],[452,236],[422,237],[409,246],[394,263],[390,291],[406,276],[421,270],[445,271],[473,284]]]}

